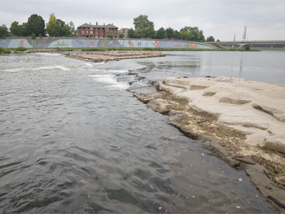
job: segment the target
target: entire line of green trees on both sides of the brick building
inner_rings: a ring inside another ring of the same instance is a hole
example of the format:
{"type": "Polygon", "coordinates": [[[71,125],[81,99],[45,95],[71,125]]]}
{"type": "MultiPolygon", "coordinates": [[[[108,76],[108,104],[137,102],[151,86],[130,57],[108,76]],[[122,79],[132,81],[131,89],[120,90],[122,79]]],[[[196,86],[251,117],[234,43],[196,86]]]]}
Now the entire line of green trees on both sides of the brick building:
{"type": "MultiPolygon", "coordinates": [[[[135,29],[128,30],[129,38],[150,38],[150,39],[181,39],[187,41],[214,41],[213,36],[204,38],[202,30],[199,30],[197,26],[185,26],[177,31],[168,27],[167,29],[160,28],[155,31],[155,25],[152,21],[148,20],[146,15],[140,15],[133,19],[135,29]]],[[[50,15],[48,23],[41,16],[33,14],[28,18],[27,22],[19,24],[18,21],[14,21],[10,29],[7,29],[5,25],[0,26],[0,37],[6,36],[31,36],[33,39],[43,37],[48,34],[53,37],[75,37],[76,28],[73,21],[66,23],[61,19],[56,19],[54,14],[50,15]],[[10,30],[10,31],[9,31],[10,30]]],[[[119,38],[123,38],[123,34],[118,35],[119,38]]],[[[111,38],[113,39],[113,38],[111,38]]],[[[219,41],[219,40],[217,40],[219,41]]]]}

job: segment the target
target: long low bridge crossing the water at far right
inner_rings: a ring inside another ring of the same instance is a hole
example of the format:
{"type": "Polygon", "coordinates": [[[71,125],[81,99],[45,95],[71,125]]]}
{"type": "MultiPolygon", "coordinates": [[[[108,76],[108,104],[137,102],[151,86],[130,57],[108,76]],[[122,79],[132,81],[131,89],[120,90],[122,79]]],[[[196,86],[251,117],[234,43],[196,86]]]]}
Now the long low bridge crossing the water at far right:
{"type": "Polygon", "coordinates": [[[285,45],[285,40],[212,41],[209,43],[219,48],[221,45],[237,45],[244,49],[249,49],[249,45],[285,45]]]}

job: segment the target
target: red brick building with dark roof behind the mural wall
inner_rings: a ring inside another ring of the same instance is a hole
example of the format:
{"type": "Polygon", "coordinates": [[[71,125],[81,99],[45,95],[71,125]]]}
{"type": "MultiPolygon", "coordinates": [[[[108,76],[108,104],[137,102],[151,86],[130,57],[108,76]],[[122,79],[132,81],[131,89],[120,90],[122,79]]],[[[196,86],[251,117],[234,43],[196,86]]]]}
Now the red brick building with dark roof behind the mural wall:
{"type": "Polygon", "coordinates": [[[82,24],[77,28],[77,37],[79,38],[95,38],[104,39],[108,34],[113,34],[114,38],[118,37],[118,27],[112,24],[105,23],[103,25],[82,24]]]}

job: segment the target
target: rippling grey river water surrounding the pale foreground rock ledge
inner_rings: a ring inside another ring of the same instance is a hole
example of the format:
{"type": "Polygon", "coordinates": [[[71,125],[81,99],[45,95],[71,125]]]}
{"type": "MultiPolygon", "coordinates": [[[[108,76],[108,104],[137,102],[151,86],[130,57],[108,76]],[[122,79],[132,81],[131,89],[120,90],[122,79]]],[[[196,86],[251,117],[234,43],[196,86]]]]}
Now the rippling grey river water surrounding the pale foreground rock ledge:
{"type": "Polygon", "coordinates": [[[0,213],[274,213],[244,171],[127,91],[166,76],[285,83],[281,52],[92,63],[0,56],[0,213]]]}

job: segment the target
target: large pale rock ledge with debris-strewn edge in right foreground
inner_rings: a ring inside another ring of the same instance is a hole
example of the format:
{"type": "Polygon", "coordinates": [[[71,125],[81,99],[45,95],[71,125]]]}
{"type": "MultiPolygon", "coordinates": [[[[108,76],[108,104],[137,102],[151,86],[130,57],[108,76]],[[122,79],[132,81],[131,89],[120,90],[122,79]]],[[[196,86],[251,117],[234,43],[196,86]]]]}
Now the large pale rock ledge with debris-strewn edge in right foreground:
{"type": "Polygon", "coordinates": [[[285,212],[285,85],[241,78],[165,78],[157,91],[133,91],[169,123],[216,156],[244,169],[285,212]]]}

